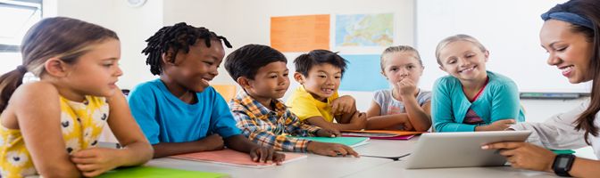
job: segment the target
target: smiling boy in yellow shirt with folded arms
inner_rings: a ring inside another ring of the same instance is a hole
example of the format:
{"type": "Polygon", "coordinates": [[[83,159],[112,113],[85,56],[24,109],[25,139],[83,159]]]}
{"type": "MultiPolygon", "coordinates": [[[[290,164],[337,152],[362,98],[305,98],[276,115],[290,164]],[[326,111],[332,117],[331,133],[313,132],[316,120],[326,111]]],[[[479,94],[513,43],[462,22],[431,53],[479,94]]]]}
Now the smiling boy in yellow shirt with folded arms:
{"type": "Polygon", "coordinates": [[[356,110],[352,96],[339,96],[337,88],[346,70],[337,53],[313,50],[296,58],[294,79],[301,84],[286,105],[300,120],[331,130],[360,130],[366,115],[356,110]],[[333,123],[333,120],[337,123],[333,123]]]}

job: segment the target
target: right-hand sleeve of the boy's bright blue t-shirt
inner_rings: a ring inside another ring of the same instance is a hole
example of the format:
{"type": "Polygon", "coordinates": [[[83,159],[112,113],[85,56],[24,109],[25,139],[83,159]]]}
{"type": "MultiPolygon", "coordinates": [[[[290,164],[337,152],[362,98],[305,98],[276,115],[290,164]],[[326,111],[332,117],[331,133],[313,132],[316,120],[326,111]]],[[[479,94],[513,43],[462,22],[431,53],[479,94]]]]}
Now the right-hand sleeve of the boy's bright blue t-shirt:
{"type": "Polygon", "coordinates": [[[215,92],[212,87],[206,89],[204,92],[210,92],[211,97],[214,99],[210,126],[212,132],[221,135],[223,138],[241,134],[242,132],[237,128],[236,120],[231,115],[231,110],[229,110],[225,99],[221,94],[215,92]]]}

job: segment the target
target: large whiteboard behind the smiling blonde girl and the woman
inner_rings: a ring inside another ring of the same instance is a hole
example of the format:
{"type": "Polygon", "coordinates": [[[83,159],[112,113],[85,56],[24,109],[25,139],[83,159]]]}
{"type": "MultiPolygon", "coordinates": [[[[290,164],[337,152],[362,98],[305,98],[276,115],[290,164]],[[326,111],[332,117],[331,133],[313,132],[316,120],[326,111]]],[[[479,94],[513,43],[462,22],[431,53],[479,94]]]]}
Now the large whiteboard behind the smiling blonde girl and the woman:
{"type": "Polygon", "coordinates": [[[540,14],[566,0],[418,0],[415,1],[415,46],[425,70],[421,87],[431,89],[439,69],[435,51],[447,36],[474,36],[487,47],[487,69],[512,78],[522,92],[589,93],[590,83],[572,85],[546,64],[539,43],[540,14]]]}

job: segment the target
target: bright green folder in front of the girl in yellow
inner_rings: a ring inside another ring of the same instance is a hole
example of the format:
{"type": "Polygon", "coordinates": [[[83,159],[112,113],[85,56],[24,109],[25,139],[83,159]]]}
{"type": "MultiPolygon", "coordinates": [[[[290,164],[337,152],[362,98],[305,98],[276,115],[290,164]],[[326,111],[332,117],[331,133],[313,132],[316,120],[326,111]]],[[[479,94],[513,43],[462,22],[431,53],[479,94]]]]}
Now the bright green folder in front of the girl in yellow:
{"type": "Polygon", "coordinates": [[[144,178],[158,178],[158,177],[228,177],[228,174],[221,173],[208,173],[199,171],[187,171],[180,169],[171,169],[155,166],[136,166],[127,168],[118,168],[104,174],[101,174],[101,178],[105,177],[144,177],[144,178]]]}

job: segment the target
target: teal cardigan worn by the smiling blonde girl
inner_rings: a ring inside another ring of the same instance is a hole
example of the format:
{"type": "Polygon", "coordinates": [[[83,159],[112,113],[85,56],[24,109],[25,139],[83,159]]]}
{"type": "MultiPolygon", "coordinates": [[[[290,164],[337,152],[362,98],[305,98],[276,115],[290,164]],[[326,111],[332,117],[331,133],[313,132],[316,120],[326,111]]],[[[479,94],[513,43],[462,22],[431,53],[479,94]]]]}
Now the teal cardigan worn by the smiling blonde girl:
{"type": "Polygon", "coordinates": [[[468,109],[473,109],[484,123],[513,118],[524,122],[517,85],[508,77],[487,71],[489,81],[476,101],[469,101],[456,77],[437,79],[433,85],[431,117],[436,132],[472,132],[475,126],[462,124],[468,109]]]}

